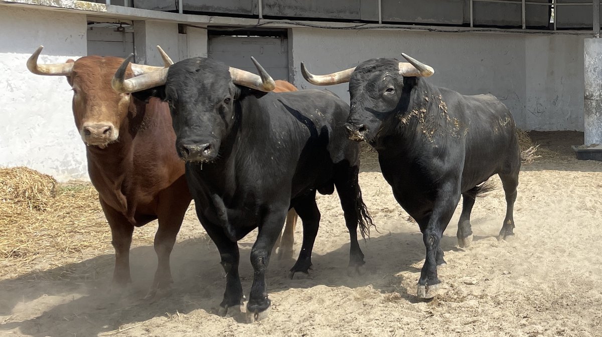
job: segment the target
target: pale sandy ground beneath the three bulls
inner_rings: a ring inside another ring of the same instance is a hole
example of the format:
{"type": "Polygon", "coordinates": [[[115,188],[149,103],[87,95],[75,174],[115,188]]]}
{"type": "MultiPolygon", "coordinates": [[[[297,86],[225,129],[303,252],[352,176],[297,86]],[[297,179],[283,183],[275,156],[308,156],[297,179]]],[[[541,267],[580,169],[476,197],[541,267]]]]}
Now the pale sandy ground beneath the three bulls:
{"type": "MultiPolygon", "coordinates": [[[[473,246],[456,245],[459,208],[445,231],[444,285],[430,302],[415,297],[424,261],[418,226],[407,221],[368,153],[360,184],[380,233],[361,243],[362,276],[346,273],[349,236],[337,196],[319,196],[322,220],[309,278],[288,279],[294,261],[273,259],[270,317],[253,324],[219,317],[225,286],[219,254],[189,212],[172,255],[171,296],[141,300],[155,269],[154,250],[144,245],[132,248],[131,293],[108,293],[107,242],[77,261],[40,261],[56,266],[48,272],[0,279],[0,336],[602,336],[602,163],[574,159],[569,145],[583,144],[582,133],[532,138],[548,151],[523,166],[516,237],[495,239],[506,205],[493,177],[498,188],[473,210],[473,246]]],[[[155,229],[137,229],[137,237],[155,229]]],[[[301,226],[296,238],[298,251],[301,226]]],[[[247,296],[253,241],[251,234],[240,243],[247,296]]]]}

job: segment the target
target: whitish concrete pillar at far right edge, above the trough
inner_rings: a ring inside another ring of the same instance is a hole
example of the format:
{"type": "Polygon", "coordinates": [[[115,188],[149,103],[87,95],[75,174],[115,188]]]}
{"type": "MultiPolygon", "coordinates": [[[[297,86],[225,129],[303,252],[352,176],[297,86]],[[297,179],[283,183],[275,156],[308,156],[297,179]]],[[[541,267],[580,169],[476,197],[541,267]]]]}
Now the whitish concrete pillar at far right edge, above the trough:
{"type": "Polygon", "coordinates": [[[583,41],[585,145],[602,144],[602,38],[583,41]]]}

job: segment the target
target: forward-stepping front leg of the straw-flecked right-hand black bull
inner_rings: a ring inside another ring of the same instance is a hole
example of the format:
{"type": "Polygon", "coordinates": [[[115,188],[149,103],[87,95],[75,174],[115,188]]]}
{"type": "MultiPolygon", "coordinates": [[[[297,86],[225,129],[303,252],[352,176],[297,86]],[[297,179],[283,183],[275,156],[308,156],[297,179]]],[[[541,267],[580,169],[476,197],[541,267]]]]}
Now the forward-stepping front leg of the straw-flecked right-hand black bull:
{"type": "Polygon", "coordinates": [[[445,184],[437,195],[430,216],[419,222],[426,247],[426,259],[417,290],[417,296],[421,299],[432,299],[439,292],[441,281],[437,275],[437,266],[445,263],[440,247],[441,237],[452,219],[459,199],[460,191],[456,184],[445,184]]]}

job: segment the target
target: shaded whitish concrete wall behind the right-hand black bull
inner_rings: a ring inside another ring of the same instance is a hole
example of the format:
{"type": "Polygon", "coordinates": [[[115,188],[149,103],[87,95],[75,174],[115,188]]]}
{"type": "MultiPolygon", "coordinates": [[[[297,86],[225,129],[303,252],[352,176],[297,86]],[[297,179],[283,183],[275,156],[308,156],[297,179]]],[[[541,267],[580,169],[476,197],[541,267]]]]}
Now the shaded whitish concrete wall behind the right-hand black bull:
{"type": "MultiPolygon", "coordinates": [[[[301,61],[322,74],[405,52],[435,68],[436,85],[494,94],[523,129],[583,130],[582,37],[293,28],[289,38],[297,87],[313,87],[301,61]]],[[[346,84],[329,90],[349,101],[346,84]]]]}

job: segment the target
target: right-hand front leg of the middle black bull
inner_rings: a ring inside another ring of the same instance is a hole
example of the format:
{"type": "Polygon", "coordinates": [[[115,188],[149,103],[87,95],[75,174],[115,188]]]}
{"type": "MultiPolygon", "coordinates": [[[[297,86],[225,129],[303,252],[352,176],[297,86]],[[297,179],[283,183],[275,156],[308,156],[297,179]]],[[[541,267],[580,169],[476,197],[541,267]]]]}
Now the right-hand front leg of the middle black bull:
{"type": "Polygon", "coordinates": [[[259,321],[266,318],[270,312],[270,299],[267,296],[265,272],[270,263],[272,248],[278,234],[282,230],[288,205],[270,207],[259,225],[257,240],[251,249],[251,265],[253,266],[253,285],[247,303],[247,322],[259,321]]]}

